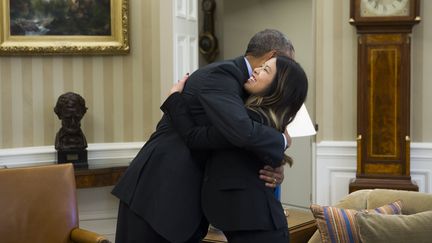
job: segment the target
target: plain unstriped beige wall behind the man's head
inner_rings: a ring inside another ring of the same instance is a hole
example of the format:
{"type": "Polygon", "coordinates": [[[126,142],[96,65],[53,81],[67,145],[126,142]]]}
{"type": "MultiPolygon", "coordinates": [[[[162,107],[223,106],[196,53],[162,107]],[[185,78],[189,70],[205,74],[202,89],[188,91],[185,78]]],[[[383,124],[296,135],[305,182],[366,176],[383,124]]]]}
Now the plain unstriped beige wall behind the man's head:
{"type": "Polygon", "coordinates": [[[217,31],[222,46],[219,59],[243,55],[249,39],[258,31],[271,28],[285,33],[293,42],[296,60],[309,79],[307,106],[311,115],[315,107],[312,0],[236,0],[224,1],[217,16],[217,31]],[[271,13],[271,14],[269,14],[271,13]]]}

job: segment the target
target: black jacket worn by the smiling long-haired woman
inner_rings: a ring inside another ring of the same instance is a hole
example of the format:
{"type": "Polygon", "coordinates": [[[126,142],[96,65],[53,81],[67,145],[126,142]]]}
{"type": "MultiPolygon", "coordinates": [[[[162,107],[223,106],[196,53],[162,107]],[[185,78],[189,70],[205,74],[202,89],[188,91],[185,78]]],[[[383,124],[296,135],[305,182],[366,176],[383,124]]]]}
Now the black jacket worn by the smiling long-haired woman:
{"type": "MultiPolygon", "coordinates": [[[[226,146],[222,137],[214,142],[218,132],[211,126],[195,126],[180,93],[168,97],[162,109],[191,149],[206,144],[220,146],[209,151],[202,188],[204,214],[213,226],[223,231],[271,231],[287,227],[284,210],[273,189],[258,178],[258,171],[264,166],[258,156],[226,146]]],[[[248,113],[253,120],[267,123],[258,113],[252,110],[248,113]]]]}

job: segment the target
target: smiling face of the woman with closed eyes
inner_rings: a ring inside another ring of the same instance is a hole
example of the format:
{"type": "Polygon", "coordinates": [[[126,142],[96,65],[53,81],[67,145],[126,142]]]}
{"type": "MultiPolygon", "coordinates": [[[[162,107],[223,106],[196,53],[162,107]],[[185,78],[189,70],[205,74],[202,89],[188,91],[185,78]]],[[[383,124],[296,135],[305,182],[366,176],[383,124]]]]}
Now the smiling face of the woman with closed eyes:
{"type": "Polygon", "coordinates": [[[246,81],[243,87],[249,94],[261,94],[270,87],[275,75],[276,58],[273,57],[261,65],[261,67],[255,68],[252,76],[246,81]]]}

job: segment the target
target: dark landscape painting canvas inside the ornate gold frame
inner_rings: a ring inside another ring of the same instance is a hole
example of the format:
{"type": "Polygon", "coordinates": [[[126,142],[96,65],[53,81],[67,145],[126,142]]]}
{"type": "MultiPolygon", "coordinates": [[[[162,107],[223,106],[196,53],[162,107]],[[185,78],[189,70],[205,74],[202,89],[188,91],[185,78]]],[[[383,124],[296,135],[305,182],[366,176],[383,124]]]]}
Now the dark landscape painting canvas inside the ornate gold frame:
{"type": "Polygon", "coordinates": [[[111,35],[110,0],[9,0],[11,35],[111,35]]]}

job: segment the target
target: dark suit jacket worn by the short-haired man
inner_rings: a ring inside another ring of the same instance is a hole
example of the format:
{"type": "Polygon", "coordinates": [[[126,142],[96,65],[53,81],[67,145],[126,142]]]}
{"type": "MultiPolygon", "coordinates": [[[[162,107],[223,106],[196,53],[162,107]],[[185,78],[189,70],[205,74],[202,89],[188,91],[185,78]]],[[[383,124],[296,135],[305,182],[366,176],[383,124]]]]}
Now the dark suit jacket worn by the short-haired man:
{"type": "MultiPolygon", "coordinates": [[[[210,64],[189,77],[183,96],[198,125],[212,124],[232,145],[278,165],[284,152],[281,133],[253,122],[244,108],[248,76],[243,57],[210,64]]],[[[206,160],[200,155],[190,152],[164,115],[112,193],[162,236],[184,241],[203,216],[200,197],[206,160]]]]}

